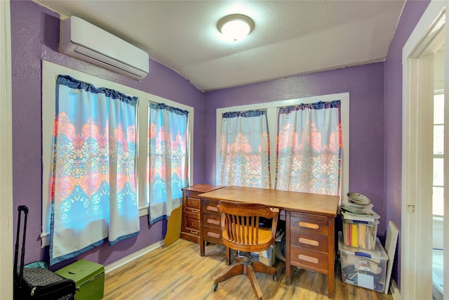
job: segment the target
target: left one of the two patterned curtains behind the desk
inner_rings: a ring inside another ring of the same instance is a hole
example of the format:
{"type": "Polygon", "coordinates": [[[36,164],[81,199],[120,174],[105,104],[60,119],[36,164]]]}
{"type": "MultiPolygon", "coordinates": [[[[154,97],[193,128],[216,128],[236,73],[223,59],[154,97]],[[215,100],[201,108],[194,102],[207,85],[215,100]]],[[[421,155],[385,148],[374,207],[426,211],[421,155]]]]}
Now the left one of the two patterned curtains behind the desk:
{"type": "Polygon", "coordinates": [[[223,114],[219,174],[220,185],[271,187],[266,111],[223,114]]]}

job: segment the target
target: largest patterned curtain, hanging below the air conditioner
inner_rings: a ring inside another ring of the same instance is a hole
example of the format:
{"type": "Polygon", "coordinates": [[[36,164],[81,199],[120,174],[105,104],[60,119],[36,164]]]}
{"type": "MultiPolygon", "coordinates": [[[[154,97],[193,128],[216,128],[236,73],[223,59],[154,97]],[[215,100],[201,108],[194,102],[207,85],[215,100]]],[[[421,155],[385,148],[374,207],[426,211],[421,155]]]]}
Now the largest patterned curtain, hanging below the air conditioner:
{"type": "Polygon", "coordinates": [[[50,263],[138,235],[137,98],[56,82],[50,263]]]}

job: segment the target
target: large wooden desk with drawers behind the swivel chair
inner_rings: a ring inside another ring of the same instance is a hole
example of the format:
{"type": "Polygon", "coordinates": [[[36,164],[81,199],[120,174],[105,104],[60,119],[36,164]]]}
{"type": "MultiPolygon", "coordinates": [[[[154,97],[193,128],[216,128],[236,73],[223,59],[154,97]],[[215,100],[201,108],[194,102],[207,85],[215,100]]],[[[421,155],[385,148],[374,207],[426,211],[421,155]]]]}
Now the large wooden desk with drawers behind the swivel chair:
{"type": "MultiPolygon", "coordinates": [[[[199,195],[201,201],[200,254],[206,242],[221,240],[220,200],[250,202],[286,211],[286,284],[291,282],[291,266],[328,275],[328,296],[335,289],[335,217],[339,197],[308,193],[229,186],[199,195]]],[[[229,252],[226,253],[229,264],[229,252]]]]}

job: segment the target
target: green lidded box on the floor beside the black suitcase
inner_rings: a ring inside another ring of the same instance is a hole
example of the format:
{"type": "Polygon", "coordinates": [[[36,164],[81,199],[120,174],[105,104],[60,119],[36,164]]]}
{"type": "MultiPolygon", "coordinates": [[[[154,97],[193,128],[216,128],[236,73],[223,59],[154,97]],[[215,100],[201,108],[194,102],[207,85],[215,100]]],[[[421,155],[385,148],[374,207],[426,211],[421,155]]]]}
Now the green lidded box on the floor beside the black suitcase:
{"type": "Polygon", "coordinates": [[[76,284],[76,300],[100,300],[105,290],[105,266],[81,259],[55,271],[76,284]]]}

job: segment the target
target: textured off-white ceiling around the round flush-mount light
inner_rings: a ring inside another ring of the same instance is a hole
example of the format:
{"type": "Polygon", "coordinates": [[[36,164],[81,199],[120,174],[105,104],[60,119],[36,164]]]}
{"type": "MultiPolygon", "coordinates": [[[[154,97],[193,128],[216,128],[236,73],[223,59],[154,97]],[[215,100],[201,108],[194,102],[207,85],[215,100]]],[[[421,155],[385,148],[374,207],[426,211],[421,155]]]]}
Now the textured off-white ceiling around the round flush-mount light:
{"type": "MultiPolygon", "coordinates": [[[[392,1],[53,1],[147,51],[211,91],[269,79],[383,61],[404,0],[392,1]],[[246,39],[222,39],[217,22],[241,13],[255,22],[246,39]]],[[[150,70],[151,72],[151,70],[150,70]]]]}

